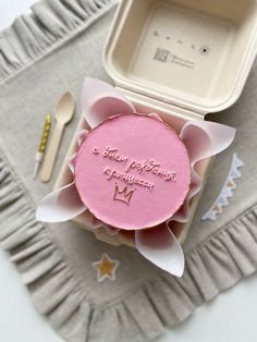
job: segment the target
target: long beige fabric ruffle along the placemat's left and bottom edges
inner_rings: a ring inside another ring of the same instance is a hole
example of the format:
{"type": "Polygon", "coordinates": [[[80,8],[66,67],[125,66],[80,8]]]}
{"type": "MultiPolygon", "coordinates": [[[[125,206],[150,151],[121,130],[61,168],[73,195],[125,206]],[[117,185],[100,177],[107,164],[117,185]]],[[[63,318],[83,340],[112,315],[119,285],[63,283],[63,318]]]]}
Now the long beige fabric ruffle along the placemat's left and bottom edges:
{"type": "Polygon", "coordinates": [[[123,298],[95,308],[48,227],[35,220],[33,204],[2,158],[0,222],[0,244],[16,264],[36,307],[69,342],[151,340],[257,269],[255,206],[187,253],[183,278],[163,272],[123,298]]]}

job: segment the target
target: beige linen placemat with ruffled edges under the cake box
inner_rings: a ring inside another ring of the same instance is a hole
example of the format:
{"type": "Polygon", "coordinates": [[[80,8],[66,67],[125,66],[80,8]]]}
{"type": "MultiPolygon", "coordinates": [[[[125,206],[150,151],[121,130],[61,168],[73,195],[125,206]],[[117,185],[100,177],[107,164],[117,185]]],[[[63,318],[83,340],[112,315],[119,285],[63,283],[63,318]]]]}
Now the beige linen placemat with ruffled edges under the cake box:
{"type": "Polygon", "coordinates": [[[47,185],[32,179],[45,115],[68,89],[78,101],[86,75],[111,82],[101,53],[114,12],[110,0],[41,1],[32,11],[0,36],[1,246],[38,310],[69,342],[154,339],[257,268],[257,64],[241,100],[211,118],[238,131],[216,159],[184,245],[185,273],[175,279],[136,251],[103,244],[70,222],[35,221],[35,206],[53,186],[79,108],[47,185]],[[119,261],[115,280],[97,281],[94,262],[103,253],[119,261]]]}

